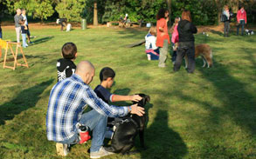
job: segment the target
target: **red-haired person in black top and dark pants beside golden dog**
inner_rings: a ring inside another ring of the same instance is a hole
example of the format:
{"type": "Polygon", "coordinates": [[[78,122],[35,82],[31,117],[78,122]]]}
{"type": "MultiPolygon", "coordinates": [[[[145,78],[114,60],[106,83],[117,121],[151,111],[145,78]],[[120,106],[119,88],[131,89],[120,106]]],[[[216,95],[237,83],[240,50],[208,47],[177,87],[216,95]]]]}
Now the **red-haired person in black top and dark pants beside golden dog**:
{"type": "Polygon", "coordinates": [[[180,70],[184,56],[188,56],[188,73],[193,73],[195,70],[195,37],[193,34],[197,33],[197,28],[191,22],[192,19],[190,16],[190,11],[183,10],[182,20],[177,26],[179,43],[177,48],[176,62],[173,68],[175,72],[180,70]]]}

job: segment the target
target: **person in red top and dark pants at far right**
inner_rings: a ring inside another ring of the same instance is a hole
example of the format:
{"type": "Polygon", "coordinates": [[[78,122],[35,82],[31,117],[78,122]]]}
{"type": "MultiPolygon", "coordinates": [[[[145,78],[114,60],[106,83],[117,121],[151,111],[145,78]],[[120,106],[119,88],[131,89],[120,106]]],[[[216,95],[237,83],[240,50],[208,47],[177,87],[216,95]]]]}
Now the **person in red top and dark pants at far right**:
{"type": "Polygon", "coordinates": [[[241,6],[240,10],[238,11],[237,21],[238,21],[237,36],[239,36],[239,28],[240,27],[241,27],[241,34],[243,36],[245,24],[247,23],[246,10],[245,10],[244,6],[241,6]]]}

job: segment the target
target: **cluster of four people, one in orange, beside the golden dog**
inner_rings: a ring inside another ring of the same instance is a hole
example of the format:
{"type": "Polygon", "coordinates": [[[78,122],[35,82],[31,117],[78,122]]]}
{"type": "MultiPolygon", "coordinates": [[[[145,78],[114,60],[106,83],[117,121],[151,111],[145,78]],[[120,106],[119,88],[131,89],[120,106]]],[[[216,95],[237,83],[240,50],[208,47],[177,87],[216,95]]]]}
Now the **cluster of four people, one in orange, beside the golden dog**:
{"type": "MultiPolygon", "coordinates": [[[[168,46],[170,36],[168,34],[169,11],[161,9],[156,16],[156,27],[151,27],[149,34],[145,36],[145,46],[148,60],[159,60],[158,67],[166,67],[168,55],[168,46]]],[[[189,73],[195,70],[195,38],[193,34],[197,33],[197,28],[192,23],[189,10],[183,10],[182,17],[176,17],[175,23],[170,29],[172,32],[171,43],[173,47],[172,63],[174,71],[180,70],[184,56],[188,56],[189,73]]]]}

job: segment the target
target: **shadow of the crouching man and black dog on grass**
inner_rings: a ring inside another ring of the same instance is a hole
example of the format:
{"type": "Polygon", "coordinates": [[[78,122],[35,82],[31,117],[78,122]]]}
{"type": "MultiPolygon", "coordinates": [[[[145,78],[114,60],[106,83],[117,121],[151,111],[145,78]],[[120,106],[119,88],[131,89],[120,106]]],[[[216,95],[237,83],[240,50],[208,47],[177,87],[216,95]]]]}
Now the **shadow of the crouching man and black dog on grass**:
{"type": "Polygon", "coordinates": [[[142,150],[142,159],[183,158],[188,152],[181,136],[168,126],[167,110],[158,110],[154,122],[146,129],[146,150],[142,150]]]}

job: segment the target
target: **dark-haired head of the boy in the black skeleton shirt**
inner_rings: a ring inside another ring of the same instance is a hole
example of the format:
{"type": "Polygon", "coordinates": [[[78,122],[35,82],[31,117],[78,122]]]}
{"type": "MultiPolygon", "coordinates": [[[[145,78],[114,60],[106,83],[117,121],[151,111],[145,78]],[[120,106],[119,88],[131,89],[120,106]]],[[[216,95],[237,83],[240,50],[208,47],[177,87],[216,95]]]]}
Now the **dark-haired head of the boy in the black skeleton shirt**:
{"type": "Polygon", "coordinates": [[[75,54],[77,53],[77,47],[74,43],[65,43],[62,46],[62,56],[66,59],[75,59],[75,54]]]}

